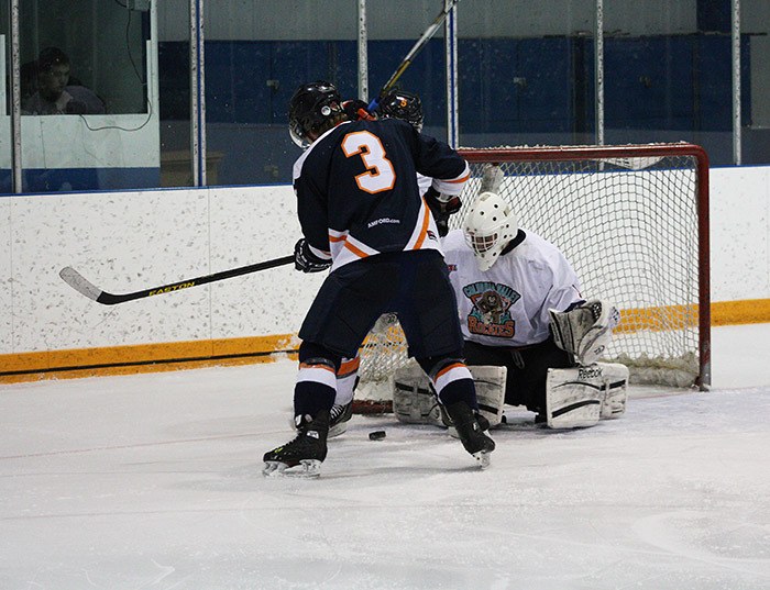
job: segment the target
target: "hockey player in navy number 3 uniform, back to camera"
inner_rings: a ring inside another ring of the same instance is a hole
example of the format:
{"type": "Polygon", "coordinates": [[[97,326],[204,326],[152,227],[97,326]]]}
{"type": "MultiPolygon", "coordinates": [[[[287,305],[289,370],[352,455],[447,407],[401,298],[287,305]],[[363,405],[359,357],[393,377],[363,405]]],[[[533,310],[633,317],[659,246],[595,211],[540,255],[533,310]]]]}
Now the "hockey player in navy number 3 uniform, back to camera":
{"type": "Polygon", "coordinates": [[[265,453],[264,472],[320,475],[341,358],[355,357],[385,312],[398,314],[410,355],[430,377],[463,447],[486,466],[495,444],[479,425],[454,291],[417,188],[420,172],[450,201],[469,177],[468,164],[403,121],[352,122],[341,103],[324,81],[300,86],[289,102],[290,135],[307,148],[293,174],[304,234],[295,267],[331,272],[299,330],[297,435],[265,453]]]}

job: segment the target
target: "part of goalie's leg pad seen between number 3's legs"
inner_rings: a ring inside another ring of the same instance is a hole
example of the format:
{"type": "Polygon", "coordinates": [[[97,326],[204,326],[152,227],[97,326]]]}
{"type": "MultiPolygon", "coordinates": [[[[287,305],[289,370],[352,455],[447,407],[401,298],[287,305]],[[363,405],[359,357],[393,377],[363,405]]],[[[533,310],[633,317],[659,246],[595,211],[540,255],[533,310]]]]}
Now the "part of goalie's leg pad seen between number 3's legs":
{"type": "Polygon", "coordinates": [[[393,413],[407,424],[447,426],[430,379],[417,364],[399,368],[393,377],[393,413]]]}

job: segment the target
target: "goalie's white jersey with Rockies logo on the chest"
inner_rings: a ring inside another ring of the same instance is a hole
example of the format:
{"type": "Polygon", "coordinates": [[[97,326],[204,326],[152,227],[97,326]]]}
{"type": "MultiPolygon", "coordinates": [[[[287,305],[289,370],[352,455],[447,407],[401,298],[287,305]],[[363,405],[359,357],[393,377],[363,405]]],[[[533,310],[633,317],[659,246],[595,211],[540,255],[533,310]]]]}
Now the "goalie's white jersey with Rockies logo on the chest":
{"type": "MultiPolygon", "coordinates": [[[[449,276],[458,298],[465,339],[486,346],[528,346],[548,338],[549,309],[581,303],[581,286],[564,255],[528,230],[524,240],[481,271],[463,232],[442,242],[449,276]]],[[[521,238],[521,233],[516,241],[521,238]]]]}

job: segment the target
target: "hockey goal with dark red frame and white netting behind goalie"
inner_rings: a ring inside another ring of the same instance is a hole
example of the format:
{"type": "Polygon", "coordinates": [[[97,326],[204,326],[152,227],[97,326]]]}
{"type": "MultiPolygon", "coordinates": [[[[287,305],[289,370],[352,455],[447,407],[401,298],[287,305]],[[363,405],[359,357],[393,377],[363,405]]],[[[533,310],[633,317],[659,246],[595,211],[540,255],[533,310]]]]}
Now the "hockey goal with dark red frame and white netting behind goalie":
{"type": "MultiPolygon", "coordinates": [[[[583,296],[620,310],[606,360],[637,383],[706,388],[710,375],[708,159],[691,144],[462,149],[472,179],[498,165],[499,189],[519,225],[556,244],[583,296]]],[[[361,350],[356,400],[386,407],[393,372],[407,361],[395,316],[383,316],[361,350]]],[[[361,403],[358,404],[361,407],[361,403]]]]}

